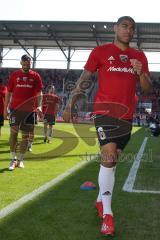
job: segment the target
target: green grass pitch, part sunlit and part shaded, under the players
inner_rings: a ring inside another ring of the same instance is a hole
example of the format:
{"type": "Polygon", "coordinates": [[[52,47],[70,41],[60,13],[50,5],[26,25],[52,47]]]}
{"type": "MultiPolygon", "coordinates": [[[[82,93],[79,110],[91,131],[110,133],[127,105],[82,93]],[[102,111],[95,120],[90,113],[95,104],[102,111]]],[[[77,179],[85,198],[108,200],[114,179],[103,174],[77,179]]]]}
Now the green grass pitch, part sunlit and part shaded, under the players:
{"type": "MultiPolygon", "coordinates": [[[[160,191],[159,138],[150,137],[145,128],[134,128],[131,141],[120,158],[116,171],[113,211],[115,240],[160,239],[160,195],[123,192],[136,153],[147,136],[145,158],[137,173],[135,188],[160,191]]],[[[89,164],[56,186],[29,201],[0,220],[1,240],[97,240],[101,221],[94,201],[98,192],[99,152],[94,127],[57,123],[51,144],[43,143],[43,127],[35,130],[33,153],[27,153],[25,168],[8,171],[8,123],[0,138],[0,210],[44,183],[54,179],[81,161],[89,164]],[[90,158],[91,156],[91,158],[90,158]],[[93,160],[95,156],[95,160],[93,160]],[[84,181],[93,181],[97,189],[82,191],[84,181]]]]}

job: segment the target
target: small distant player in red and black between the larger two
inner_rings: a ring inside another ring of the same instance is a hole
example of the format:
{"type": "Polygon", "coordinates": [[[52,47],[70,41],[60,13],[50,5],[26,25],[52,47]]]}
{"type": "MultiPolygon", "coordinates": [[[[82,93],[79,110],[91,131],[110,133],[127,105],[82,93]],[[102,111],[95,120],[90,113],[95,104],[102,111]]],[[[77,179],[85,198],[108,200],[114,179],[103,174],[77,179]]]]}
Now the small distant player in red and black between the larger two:
{"type": "Polygon", "coordinates": [[[48,92],[43,95],[44,114],[44,142],[50,143],[53,134],[53,125],[58,110],[59,97],[55,94],[55,87],[49,86],[48,92]]]}

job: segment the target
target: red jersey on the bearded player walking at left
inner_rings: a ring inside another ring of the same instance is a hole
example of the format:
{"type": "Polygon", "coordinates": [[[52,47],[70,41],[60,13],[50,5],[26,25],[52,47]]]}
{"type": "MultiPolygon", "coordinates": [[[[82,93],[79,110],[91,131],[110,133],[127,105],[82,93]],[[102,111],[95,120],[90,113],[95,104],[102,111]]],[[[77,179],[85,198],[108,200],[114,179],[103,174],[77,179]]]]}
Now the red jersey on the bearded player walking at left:
{"type": "Polygon", "coordinates": [[[8,83],[8,92],[13,93],[10,108],[34,111],[34,97],[42,88],[42,79],[37,72],[29,70],[28,73],[24,73],[21,69],[13,72],[8,83]]]}

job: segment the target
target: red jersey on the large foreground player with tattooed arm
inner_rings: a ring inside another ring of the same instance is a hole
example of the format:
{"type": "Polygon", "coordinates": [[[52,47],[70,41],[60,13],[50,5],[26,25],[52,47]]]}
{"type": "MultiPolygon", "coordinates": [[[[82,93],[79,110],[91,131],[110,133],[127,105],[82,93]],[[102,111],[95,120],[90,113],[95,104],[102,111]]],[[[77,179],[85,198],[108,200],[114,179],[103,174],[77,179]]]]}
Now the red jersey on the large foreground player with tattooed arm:
{"type": "Polygon", "coordinates": [[[139,77],[134,72],[130,59],[142,62],[143,72],[149,74],[146,56],[135,48],[128,47],[126,50],[121,50],[111,43],[92,50],[85,64],[85,69],[90,72],[98,71],[98,90],[94,101],[96,113],[102,113],[99,110],[103,108],[103,113],[106,111],[107,114],[108,109],[104,109],[104,103],[106,103],[106,107],[109,104],[110,114],[108,115],[132,119],[135,107],[136,81],[139,77]],[[101,104],[103,106],[99,107],[101,104]]]}

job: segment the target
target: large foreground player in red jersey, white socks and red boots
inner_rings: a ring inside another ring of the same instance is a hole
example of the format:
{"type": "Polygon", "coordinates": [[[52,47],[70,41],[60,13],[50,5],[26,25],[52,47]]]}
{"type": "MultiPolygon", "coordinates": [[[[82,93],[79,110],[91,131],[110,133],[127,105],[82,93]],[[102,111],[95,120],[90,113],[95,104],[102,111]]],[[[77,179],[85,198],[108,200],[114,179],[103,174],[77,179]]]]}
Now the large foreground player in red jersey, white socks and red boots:
{"type": "Polygon", "coordinates": [[[98,72],[98,90],[94,100],[94,122],[101,151],[98,176],[99,194],[96,201],[98,215],[103,219],[101,234],[114,235],[115,225],[111,209],[112,193],[118,155],[131,136],[135,106],[136,82],[144,92],[150,91],[148,62],[144,53],[129,46],[135,31],[135,21],[129,16],[120,17],[114,25],[113,43],[95,47],[77,81],[63,112],[70,121],[70,111],[76,95],[85,93],[85,82],[98,72]]]}

